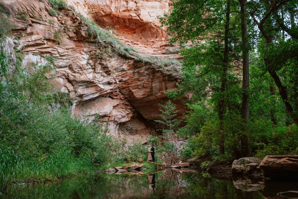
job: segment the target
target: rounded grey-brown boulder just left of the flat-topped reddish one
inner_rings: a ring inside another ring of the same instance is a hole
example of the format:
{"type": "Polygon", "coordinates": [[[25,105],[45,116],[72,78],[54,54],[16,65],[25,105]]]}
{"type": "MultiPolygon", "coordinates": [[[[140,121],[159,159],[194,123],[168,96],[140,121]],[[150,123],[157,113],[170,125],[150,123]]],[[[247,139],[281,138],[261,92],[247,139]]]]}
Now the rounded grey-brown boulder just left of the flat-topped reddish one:
{"type": "Polygon", "coordinates": [[[251,174],[256,171],[261,160],[255,157],[244,157],[239,160],[234,160],[232,164],[233,174],[251,174]]]}

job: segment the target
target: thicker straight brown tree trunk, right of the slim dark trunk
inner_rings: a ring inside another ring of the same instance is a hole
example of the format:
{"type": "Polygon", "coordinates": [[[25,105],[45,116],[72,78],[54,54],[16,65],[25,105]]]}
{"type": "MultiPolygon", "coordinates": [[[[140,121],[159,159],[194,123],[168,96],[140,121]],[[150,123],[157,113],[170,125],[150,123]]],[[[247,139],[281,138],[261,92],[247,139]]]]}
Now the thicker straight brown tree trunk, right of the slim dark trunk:
{"type": "Polygon", "coordinates": [[[248,37],[247,37],[247,16],[246,16],[246,0],[239,0],[240,14],[241,14],[241,39],[242,39],[242,65],[243,65],[243,78],[242,78],[242,107],[241,116],[245,123],[244,133],[241,136],[240,148],[241,155],[248,155],[248,137],[245,132],[248,130],[248,117],[249,117],[249,57],[248,57],[248,37]]]}

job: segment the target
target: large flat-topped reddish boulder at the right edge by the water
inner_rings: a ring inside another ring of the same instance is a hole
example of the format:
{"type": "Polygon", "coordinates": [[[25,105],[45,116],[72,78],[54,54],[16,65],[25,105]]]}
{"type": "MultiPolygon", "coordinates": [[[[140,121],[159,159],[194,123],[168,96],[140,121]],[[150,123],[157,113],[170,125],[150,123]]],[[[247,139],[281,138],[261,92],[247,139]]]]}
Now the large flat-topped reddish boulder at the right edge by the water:
{"type": "Polygon", "coordinates": [[[268,178],[298,179],[298,155],[267,155],[260,168],[268,178]]]}

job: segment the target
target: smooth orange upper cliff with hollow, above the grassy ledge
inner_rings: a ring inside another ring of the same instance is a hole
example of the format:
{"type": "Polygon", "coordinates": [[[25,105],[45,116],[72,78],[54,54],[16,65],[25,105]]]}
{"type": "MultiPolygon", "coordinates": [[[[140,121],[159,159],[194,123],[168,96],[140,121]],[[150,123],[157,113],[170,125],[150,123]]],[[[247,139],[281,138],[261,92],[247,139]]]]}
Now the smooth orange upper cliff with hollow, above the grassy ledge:
{"type": "Polygon", "coordinates": [[[169,10],[170,0],[67,0],[77,12],[91,17],[101,27],[141,54],[175,57],[181,46],[170,46],[158,16],[169,10]]]}

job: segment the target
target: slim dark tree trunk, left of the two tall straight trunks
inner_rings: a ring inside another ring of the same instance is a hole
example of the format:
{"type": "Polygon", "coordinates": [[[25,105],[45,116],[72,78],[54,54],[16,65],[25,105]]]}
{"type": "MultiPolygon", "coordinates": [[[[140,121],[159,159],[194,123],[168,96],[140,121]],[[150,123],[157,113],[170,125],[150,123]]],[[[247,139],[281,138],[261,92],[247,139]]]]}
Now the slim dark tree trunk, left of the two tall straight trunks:
{"type": "Polygon", "coordinates": [[[223,64],[223,74],[221,79],[221,99],[219,101],[219,155],[224,155],[224,113],[225,113],[225,97],[224,92],[227,87],[227,70],[228,70],[228,44],[229,44],[229,26],[230,26],[230,9],[231,2],[227,0],[226,5],[226,24],[224,28],[224,64],[223,64]]]}

